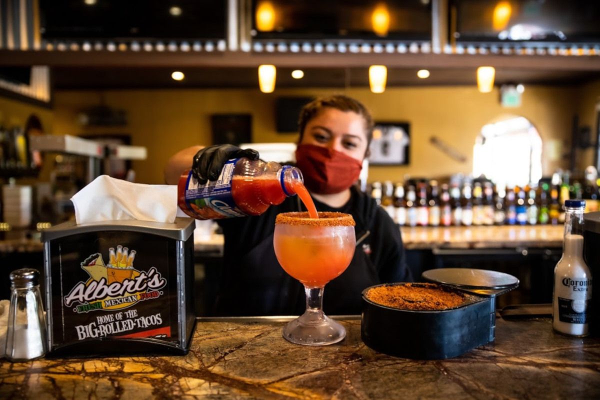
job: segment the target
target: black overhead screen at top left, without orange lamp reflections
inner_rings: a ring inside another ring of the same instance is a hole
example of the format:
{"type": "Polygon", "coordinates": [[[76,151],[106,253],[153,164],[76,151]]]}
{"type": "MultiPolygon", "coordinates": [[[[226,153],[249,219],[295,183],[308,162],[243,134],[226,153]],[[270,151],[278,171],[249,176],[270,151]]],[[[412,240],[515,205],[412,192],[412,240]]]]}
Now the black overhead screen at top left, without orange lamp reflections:
{"type": "Polygon", "coordinates": [[[44,39],[221,39],[227,0],[40,0],[44,39]]]}

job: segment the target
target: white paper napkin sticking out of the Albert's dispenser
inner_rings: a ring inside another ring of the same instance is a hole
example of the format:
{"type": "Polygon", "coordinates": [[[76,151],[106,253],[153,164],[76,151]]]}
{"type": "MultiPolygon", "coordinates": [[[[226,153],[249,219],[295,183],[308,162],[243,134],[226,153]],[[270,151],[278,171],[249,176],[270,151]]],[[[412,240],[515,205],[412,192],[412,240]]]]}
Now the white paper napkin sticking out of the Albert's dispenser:
{"type": "Polygon", "coordinates": [[[108,175],[98,176],[71,201],[77,224],[115,219],[173,223],[175,216],[185,215],[177,206],[176,185],[134,184],[108,175]]]}

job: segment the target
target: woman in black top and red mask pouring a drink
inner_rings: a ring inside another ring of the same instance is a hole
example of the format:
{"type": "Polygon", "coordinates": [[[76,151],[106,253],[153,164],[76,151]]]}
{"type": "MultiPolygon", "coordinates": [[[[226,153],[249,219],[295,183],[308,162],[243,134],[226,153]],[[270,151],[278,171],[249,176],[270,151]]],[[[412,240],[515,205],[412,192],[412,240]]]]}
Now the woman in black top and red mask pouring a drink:
{"type": "MultiPolygon", "coordinates": [[[[359,101],[345,95],[317,98],[299,116],[296,167],[319,212],[342,212],[355,221],[356,248],[346,271],[327,284],[323,310],[328,315],[361,312],[361,291],[383,282],[410,282],[412,276],[400,230],[388,213],[355,187],[368,157],[373,119],[359,101]]],[[[257,160],[252,149],[216,145],[184,149],[169,160],[167,184],[177,184],[192,167],[200,184],[218,178],[232,158],[257,160]]],[[[223,269],[211,315],[297,315],[305,309],[303,285],[288,275],[275,256],[275,218],[305,211],[298,196],[257,216],[218,219],[223,229],[223,269]]]]}

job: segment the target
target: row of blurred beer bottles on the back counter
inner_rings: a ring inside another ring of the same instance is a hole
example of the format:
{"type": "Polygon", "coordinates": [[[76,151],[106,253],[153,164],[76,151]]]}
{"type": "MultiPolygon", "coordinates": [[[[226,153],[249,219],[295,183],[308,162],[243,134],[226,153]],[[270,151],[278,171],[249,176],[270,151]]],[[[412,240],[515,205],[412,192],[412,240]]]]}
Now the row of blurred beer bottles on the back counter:
{"type": "MultiPolygon", "coordinates": [[[[598,209],[598,188],[589,202],[598,209]]],[[[565,221],[569,193],[540,181],[536,187],[501,187],[491,181],[412,180],[407,184],[373,182],[371,197],[400,226],[537,225],[565,221]]],[[[583,194],[583,192],[582,192],[583,194]]],[[[586,197],[586,196],[583,196],[586,197]]],[[[581,197],[579,197],[581,198],[581,197]]]]}

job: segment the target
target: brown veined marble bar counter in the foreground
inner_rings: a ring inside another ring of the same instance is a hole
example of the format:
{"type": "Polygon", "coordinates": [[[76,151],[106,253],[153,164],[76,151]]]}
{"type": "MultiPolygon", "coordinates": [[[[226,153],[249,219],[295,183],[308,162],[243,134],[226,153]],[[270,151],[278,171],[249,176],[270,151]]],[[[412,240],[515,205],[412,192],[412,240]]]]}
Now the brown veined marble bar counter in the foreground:
{"type": "Polygon", "coordinates": [[[346,339],[325,347],[287,342],[280,318],[226,318],[199,320],[186,356],[0,360],[0,399],[600,398],[600,338],[550,318],[497,318],[494,342],[427,361],[377,353],[341,320],[346,339]]]}

